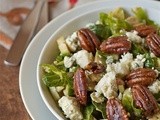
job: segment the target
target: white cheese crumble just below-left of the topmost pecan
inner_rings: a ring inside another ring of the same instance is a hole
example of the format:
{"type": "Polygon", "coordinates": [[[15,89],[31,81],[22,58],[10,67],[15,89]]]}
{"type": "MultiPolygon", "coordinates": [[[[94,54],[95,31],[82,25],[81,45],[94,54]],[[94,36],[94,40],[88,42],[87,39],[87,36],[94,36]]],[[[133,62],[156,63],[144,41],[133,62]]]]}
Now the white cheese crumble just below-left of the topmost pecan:
{"type": "Polygon", "coordinates": [[[144,39],[138,36],[138,32],[135,30],[133,32],[126,32],[126,35],[129,41],[132,41],[135,43],[144,43],[144,39]]]}

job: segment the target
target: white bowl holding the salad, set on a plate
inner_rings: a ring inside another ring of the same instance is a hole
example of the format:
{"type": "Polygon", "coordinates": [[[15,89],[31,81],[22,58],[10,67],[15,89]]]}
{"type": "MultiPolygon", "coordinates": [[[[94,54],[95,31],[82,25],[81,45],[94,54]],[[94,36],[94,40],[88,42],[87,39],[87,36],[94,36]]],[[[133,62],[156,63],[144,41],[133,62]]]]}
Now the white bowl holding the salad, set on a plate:
{"type": "MultiPolygon", "coordinates": [[[[60,108],[58,107],[58,104],[54,101],[53,97],[51,96],[49,89],[42,82],[41,78],[42,78],[43,72],[40,67],[40,65],[43,63],[52,63],[53,59],[58,54],[58,47],[57,47],[57,43],[55,40],[58,39],[60,36],[66,37],[66,36],[70,35],[74,31],[84,27],[86,24],[88,24],[90,22],[97,21],[99,18],[100,12],[102,12],[102,11],[109,12],[111,10],[114,10],[117,7],[122,7],[126,11],[131,13],[131,8],[141,6],[145,10],[147,10],[149,18],[151,18],[152,20],[154,20],[157,23],[160,23],[160,14],[159,14],[160,9],[158,10],[158,9],[150,8],[149,4],[142,4],[141,2],[140,2],[140,5],[138,4],[138,2],[135,2],[134,4],[131,4],[130,2],[131,1],[125,1],[125,3],[119,4],[116,6],[107,6],[106,5],[105,9],[103,7],[103,9],[99,8],[98,10],[95,10],[95,11],[92,11],[89,13],[86,12],[84,15],[81,15],[81,16],[77,15],[73,19],[68,21],[66,24],[64,24],[63,26],[60,26],[60,28],[56,32],[53,33],[53,35],[49,38],[47,43],[44,45],[44,48],[41,51],[39,61],[37,64],[37,83],[38,83],[38,88],[39,88],[40,94],[41,94],[45,104],[47,105],[49,110],[58,119],[65,119],[65,117],[62,114],[62,111],[60,110],[60,108]]],[[[106,1],[106,3],[107,3],[107,1],[106,1]]],[[[114,4],[114,2],[112,4],[114,4]]],[[[88,6],[91,6],[91,5],[88,5],[88,6]]],[[[96,8],[96,3],[92,4],[92,7],[96,8]]]]}

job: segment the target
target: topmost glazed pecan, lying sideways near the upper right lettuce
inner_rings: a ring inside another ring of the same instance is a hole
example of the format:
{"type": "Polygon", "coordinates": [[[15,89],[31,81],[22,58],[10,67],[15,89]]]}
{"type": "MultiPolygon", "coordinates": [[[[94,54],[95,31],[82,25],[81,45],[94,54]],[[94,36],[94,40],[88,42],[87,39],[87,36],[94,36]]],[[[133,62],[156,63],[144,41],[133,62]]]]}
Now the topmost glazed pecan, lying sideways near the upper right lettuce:
{"type": "Polygon", "coordinates": [[[135,30],[138,32],[138,35],[141,37],[147,37],[151,33],[156,33],[156,29],[153,26],[149,25],[138,25],[135,27],[135,30]]]}

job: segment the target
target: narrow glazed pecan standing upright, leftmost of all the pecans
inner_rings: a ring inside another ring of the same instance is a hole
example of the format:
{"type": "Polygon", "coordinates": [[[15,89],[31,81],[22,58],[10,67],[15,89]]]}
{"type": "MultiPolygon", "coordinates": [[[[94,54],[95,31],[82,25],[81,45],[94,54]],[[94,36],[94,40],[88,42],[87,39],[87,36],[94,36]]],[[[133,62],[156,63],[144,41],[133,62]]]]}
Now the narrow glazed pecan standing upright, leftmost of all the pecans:
{"type": "Polygon", "coordinates": [[[81,68],[77,69],[74,74],[74,93],[77,100],[82,104],[86,105],[87,103],[87,78],[85,71],[81,68]]]}

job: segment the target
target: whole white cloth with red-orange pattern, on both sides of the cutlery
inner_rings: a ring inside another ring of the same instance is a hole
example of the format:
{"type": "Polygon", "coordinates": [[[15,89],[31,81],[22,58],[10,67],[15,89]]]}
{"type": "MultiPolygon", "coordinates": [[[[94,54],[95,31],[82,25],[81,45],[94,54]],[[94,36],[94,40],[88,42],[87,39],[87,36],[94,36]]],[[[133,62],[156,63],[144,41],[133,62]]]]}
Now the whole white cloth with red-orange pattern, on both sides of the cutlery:
{"type": "MultiPolygon", "coordinates": [[[[81,4],[94,0],[48,0],[50,19],[81,4]]],[[[0,0],[0,45],[10,49],[21,24],[34,7],[35,0],[0,0]]]]}

